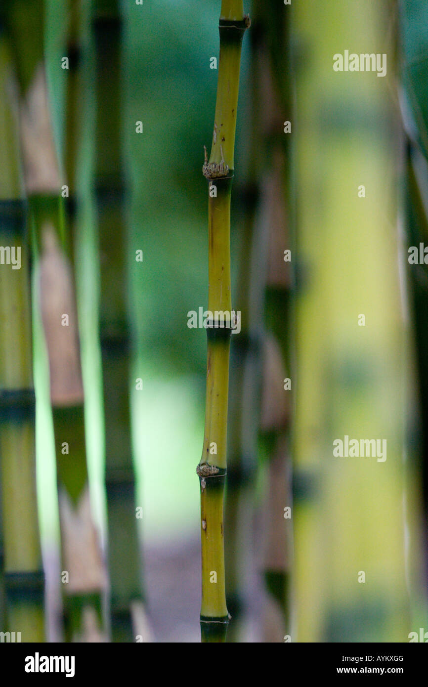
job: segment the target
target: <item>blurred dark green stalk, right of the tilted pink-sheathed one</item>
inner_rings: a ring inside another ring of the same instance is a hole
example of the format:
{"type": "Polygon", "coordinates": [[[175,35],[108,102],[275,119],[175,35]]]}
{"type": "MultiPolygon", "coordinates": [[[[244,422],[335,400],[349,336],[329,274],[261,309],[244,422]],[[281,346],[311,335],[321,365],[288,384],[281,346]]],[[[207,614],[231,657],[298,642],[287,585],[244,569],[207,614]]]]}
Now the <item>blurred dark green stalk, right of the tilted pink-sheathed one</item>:
{"type": "Polygon", "coordinates": [[[93,3],[92,28],[96,65],[94,189],[100,250],[100,343],[111,629],[114,641],[132,642],[136,635],[146,635],[147,622],[131,445],[129,383],[132,331],[127,304],[127,194],[121,123],[122,19],[117,0],[93,3]],[[108,145],[106,131],[109,131],[108,145]]]}

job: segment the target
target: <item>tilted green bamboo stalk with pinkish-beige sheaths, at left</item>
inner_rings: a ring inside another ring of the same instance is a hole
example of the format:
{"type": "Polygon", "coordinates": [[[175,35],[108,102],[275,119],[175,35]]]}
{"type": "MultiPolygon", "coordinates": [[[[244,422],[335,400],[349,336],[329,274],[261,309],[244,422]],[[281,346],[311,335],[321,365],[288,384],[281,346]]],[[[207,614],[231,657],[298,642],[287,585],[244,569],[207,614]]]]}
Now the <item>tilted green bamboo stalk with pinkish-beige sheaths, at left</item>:
{"type": "Polygon", "coordinates": [[[89,498],[72,255],[43,57],[44,3],[10,0],[7,6],[19,76],[24,180],[39,258],[38,306],[49,359],[62,567],[68,573],[65,634],[73,641],[103,640],[106,579],[89,498]]]}

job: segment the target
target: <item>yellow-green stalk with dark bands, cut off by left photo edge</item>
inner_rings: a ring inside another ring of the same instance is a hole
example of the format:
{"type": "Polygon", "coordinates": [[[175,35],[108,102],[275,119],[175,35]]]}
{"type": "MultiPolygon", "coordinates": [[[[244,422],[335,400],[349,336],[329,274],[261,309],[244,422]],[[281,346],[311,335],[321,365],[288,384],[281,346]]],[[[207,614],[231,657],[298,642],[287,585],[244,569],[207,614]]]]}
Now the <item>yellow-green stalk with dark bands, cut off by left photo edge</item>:
{"type": "MultiPolygon", "coordinates": [[[[0,19],[1,21],[1,19],[0,19]]],[[[32,328],[26,205],[11,102],[12,69],[0,26],[0,246],[21,265],[0,264],[0,541],[5,599],[1,631],[44,642],[44,574],[38,533],[32,328]]],[[[0,589],[0,594],[3,589],[0,589]]]]}

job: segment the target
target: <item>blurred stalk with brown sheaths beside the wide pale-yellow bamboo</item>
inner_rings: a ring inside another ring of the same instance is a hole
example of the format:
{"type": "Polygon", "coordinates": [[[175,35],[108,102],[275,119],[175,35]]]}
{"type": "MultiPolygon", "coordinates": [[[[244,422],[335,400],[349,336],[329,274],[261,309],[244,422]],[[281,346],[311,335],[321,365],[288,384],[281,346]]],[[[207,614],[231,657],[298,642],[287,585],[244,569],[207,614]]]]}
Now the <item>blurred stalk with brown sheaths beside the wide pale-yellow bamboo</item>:
{"type": "Polygon", "coordinates": [[[260,429],[267,453],[264,582],[269,595],[264,640],[282,642],[290,635],[290,575],[292,558],[291,494],[291,14],[278,3],[258,3],[260,27],[256,45],[258,102],[264,181],[260,215],[267,229],[267,276],[264,324],[264,384],[260,429]],[[281,47],[281,56],[278,50],[281,47]],[[284,121],[285,120],[285,121],[284,121]],[[289,258],[289,259],[286,259],[289,258]]]}

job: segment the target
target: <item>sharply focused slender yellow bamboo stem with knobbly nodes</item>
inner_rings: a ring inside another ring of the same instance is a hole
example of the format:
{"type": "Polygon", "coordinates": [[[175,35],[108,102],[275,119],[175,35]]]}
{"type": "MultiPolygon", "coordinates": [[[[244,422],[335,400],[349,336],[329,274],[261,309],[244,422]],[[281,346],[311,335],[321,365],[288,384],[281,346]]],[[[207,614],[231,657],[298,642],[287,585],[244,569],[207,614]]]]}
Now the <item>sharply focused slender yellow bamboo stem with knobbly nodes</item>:
{"type": "MultiPolygon", "coordinates": [[[[243,1],[221,4],[220,60],[214,132],[210,159],[203,174],[210,193],[208,309],[231,311],[230,284],[230,199],[234,174],[234,143],[240,53],[249,17],[243,1]]],[[[225,598],[223,545],[223,494],[226,477],[227,396],[229,384],[230,328],[207,328],[207,394],[205,431],[201,461],[196,472],[201,484],[202,543],[202,642],[225,642],[229,613],[225,598]],[[210,452],[211,451],[211,452],[210,452]],[[211,458],[215,455],[215,458],[211,458]]]]}

